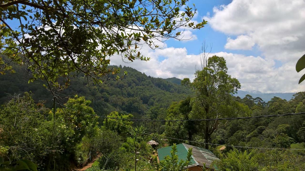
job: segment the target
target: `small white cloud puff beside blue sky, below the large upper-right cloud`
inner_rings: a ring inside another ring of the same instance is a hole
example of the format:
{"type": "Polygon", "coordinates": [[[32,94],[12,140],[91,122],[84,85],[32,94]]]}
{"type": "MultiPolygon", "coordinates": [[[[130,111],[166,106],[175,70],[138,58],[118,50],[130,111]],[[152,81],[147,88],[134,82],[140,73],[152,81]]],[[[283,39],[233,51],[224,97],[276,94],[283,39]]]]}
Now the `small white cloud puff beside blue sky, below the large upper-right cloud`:
{"type": "Polygon", "coordinates": [[[224,48],[233,50],[251,50],[254,45],[255,43],[251,37],[240,35],[236,39],[228,37],[227,44],[224,48]]]}

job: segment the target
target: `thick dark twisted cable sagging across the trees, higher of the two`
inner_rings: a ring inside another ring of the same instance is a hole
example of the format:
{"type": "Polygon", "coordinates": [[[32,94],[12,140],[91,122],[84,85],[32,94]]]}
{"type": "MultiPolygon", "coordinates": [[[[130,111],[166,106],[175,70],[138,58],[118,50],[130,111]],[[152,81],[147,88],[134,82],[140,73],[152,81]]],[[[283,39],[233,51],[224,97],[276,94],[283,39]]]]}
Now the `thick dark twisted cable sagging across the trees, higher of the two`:
{"type": "MultiPolygon", "coordinates": [[[[64,106],[65,108],[71,109],[69,107],[64,106]]],[[[77,110],[74,110],[77,111],[77,110]]],[[[81,112],[81,111],[80,111],[81,112]]],[[[84,112],[81,112],[84,113],[84,112]]],[[[124,119],[124,118],[114,118],[114,117],[106,117],[106,116],[99,116],[99,115],[94,115],[90,113],[84,113],[88,114],[91,116],[97,116],[97,117],[103,117],[103,118],[108,118],[108,119],[115,119],[115,120],[130,120],[130,121],[152,121],[152,122],[185,122],[185,121],[204,121],[204,120],[236,120],[236,119],[252,119],[252,118],[261,118],[261,117],[280,117],[280,116],[289,116],[289,115],[303,115],[305,112],[300,112],[300,113],[286,113],[282,115],[264,115],[264,116],[254,116],[254,117],[235,117],[235,118],[216,118],[216,119],[188,119],[188,120],[143,120],[143,119],[124,119]]]]}

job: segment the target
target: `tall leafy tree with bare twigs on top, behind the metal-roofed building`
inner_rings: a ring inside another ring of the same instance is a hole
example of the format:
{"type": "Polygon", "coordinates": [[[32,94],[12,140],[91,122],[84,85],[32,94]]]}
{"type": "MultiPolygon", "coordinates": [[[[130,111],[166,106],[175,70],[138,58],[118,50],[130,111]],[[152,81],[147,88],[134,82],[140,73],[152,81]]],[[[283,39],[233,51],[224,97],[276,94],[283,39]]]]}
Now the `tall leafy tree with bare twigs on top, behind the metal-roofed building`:
{"type": "MultiPolygon", "coordinates": [[[[240,88],[240,83],[227,74],[225,59],[214,55],[208,59],[203,58],[202,63],[203,68],[196,71],[193,82],[190,82],[188,78],[181,82],[190,86],[196,94],[193,100],[192,117],[212,119],[249,114],[249,108],[232,97],[232,94],[240,88]]],[[[203,126],[205,141],[209,142],[211,134],[225,124],[220,120],[207,121],[203,126]]]]}

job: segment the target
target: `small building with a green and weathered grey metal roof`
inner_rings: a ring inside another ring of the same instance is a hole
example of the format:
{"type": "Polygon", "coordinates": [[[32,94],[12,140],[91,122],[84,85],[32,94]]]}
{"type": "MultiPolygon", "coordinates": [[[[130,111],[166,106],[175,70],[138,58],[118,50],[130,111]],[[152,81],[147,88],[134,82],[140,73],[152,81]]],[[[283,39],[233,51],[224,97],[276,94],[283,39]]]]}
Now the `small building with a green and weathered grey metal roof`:
{"type": "MultiPolygon", "coordinates": [[[[210,168],[210,165],[213,161],[219,160],[216,155],[214,155],[210,150],[205,148],[196,147],[188,144],[178,144],[177,145],[177,155],[179,160],[187,160],[188,148],[192,149],[192,159],[188,165],[188,171],[202,171],[203,163],[206,164],[207,168],[210,168]]],[[[158,159],[159,161],[164,160],[164,158],[169,155],[172,150],[172,146],[159,148],[158,159]]]]}

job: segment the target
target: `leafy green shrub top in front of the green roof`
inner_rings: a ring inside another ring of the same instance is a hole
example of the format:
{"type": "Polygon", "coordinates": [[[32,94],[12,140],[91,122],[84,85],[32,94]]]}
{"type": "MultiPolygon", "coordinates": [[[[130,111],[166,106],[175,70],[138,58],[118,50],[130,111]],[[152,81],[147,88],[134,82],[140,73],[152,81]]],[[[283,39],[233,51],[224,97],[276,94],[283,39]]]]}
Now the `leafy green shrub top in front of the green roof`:
{"type": "Polygon", "coordinates": [[[157,156],[154,157],[153,164],[157,171],[187,171],[188,164],[192,159],[192,148],[188,148],[187,160],[178,160],[177,146],[173,145],[170,156],[166,156],[164,160],[158,162],[157,156]]]}

